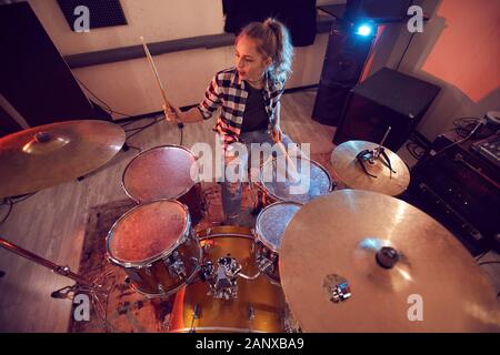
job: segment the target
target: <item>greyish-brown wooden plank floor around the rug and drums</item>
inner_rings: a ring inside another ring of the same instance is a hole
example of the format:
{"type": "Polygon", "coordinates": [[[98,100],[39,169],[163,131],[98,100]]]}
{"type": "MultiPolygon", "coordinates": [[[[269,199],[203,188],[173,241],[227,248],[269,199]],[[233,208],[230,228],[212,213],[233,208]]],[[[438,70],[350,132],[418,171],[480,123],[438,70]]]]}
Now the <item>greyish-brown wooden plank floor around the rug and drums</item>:
{"type": "MultiPolygon", "coordinates": [[[[314,91],[286,94],[282,101],[282,129],[296,142],[310,142],[312,153],[332,150],[334,129],[310,119],[314,91]]],[[[184,128],[183,145],[196,142],[214,144],[212,120],[184,128]]],[[[143,124],[142,122],[133,125],[143,124]]],[[[161,144],[179,144],[179,130],[161,122],[133,136],[129,143],[141,149],[161,144]]],[[[72,181],[38,192],[14,206],[10,217],[0,225],[0,235],[54,263],[78,270],[87,213],[91,206],[126,199],[120,185],[127,163],[137,151],[120,152],[106,166],[81,182],[72,181]]],[[[50,169],[50,166],[47,166],[50,169]]],[[[0,216],[4,211],[0,211],[0,216]]],[[[496,257],[486,255],[483,260],[496,257]]],[[[496,265],[492,265],[496,266],[496,265]]],[[[70,301],[53,300],[52,291],[71,281],[42,266],[0,250],[0,332],[66,332],[70,301]]],[[[496,268],[489,271],[500,287],[496,268]]]]}

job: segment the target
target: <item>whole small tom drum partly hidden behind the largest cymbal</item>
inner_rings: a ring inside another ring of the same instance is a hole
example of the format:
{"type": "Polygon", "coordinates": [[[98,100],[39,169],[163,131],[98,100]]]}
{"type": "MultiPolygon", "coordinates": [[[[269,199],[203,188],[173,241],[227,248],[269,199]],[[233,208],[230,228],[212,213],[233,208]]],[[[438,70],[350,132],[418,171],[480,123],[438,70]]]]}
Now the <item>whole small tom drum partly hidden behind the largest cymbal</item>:
{"type": "Polygon", "coordinates": [[[256,222],[256,261],[259,270],[279,283],[278,256],[281,237],[293,215],[302,205],[297,202],[277,202],[263,209],[256,222]]]}

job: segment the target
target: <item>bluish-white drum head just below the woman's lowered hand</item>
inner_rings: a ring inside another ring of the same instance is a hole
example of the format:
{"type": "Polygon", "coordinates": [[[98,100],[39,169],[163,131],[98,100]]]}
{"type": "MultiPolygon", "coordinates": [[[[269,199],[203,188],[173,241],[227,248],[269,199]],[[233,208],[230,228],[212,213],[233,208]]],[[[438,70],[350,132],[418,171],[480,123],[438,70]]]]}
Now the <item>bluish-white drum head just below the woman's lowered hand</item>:
{"type": "Polygon", "coordinates": [[[267,162],[260,172],[260,183],[264,190],[280,201],[307,203],[316,196],[332,191],[330,174],[317,162],[297,159],[300,180],[290,180],[283,169],[286,159],[278,158],[267,162]]]}

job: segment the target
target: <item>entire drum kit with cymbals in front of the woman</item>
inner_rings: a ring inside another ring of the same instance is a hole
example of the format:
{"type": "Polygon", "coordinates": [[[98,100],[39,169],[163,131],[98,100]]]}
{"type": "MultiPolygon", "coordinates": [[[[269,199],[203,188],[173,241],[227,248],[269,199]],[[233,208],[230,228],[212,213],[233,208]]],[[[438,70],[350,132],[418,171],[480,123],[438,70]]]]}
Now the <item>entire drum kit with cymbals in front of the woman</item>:
{"type": "MultiPolygon", "coordinates": [[[[101,121],[2,138],[0,196],[90,173],[123,143],[123,130],[101,121]]],[[[286,317],[303,332],[500,331],[488,276],[444,227],[394,197],[409,183],[398,155],[370,142],[339,145],[331,164],[346,190],[301,158],[297,172],[310,176],[302,194],[291,194],[287,179],[263,178],[277,176],[279,159],[261,165],[263,209],[253,229],[196,229],[206,204],[192,174],[197,159],[183,146],[143,151],[124,169],[123,190],[138,204],[109,231],[107,258],[133,291],[174,297],[170,332],[291,331],[286,317]],[[417,320],[411,300],[422,302],[417,320]]],[[[3,239],[0,246],[102,293],[100,283],[67,266],[3,239]]]]}

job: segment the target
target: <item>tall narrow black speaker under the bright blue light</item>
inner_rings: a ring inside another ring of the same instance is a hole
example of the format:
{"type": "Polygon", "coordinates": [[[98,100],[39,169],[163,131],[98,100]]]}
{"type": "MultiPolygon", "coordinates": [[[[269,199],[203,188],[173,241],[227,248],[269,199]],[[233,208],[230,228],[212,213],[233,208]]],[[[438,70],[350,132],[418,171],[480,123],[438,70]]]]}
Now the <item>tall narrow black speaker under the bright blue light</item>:
{"type": "Polygon", "coordinates": [[[349,90],[361,77],[371,50],[373,37],[362,37],[351,28],[334,24],[328,40],[321,79],[312,119],[337,125],[349,90]]]}

